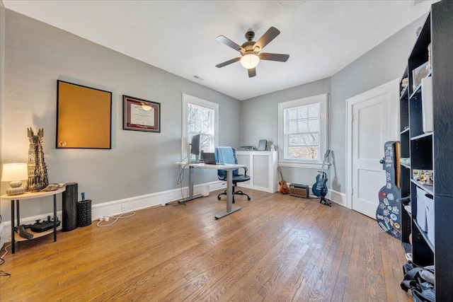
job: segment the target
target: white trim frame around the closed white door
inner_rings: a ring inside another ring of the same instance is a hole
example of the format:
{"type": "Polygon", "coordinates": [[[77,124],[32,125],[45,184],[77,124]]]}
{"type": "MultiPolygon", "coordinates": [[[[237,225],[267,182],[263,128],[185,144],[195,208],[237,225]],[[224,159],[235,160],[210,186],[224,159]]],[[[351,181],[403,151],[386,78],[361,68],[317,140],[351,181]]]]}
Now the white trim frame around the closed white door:
{"type": "MultiPolygon", "coordinates": [[[[352,106],[360,103],[364,98],[380,95],[385,90],[394,93],[392,98],[395,98],[395,111],[394,115],[389,117],[391,121],[389,125],[391,138],[389,138],[389,141],[399,141],[399,83],[400,79],[398,78],[346,100],[346,207],[348,209],[352,209],[352,106]]],[[[382,146],[382,150],[384,150],[384,146],[382,146]]],[[[384,157],[384,154],[382,156],[384,157]]]]}

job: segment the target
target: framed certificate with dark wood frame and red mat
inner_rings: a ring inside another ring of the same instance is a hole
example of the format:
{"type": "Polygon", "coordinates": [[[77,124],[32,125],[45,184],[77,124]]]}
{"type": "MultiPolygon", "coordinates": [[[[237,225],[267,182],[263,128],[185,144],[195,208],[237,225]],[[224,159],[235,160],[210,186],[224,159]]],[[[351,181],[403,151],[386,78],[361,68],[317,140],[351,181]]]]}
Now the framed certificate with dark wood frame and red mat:
{"type": "Polygon", "coordinates": [[[122,95],[122,129],[161,132],[161,103],[122,95]]]}

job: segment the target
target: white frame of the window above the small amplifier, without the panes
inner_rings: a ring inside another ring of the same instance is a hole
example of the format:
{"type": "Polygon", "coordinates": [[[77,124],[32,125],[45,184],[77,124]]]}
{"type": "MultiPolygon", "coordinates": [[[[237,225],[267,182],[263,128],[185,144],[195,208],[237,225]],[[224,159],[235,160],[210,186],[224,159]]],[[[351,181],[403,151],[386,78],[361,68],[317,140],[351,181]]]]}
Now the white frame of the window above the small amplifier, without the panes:
{"type": "MultiPolygon", "coordinates": [[[[278,164],[282,167],[293,168],[310,168],[321,169],[324,153],[328,149],[328,94],[320,94],[310,96],[308,98],[300,98],[298,100],[289,100],[288,102],[278,104],[278,164]],[[289,159],[285,158],[286,141],[285,141],[285,110],[294,107],[313,105],[319,103],[319,161],[304,160],[304,159],[289,159]]],[[[328,164],[326,162],[326,164],[328,164]]]]}

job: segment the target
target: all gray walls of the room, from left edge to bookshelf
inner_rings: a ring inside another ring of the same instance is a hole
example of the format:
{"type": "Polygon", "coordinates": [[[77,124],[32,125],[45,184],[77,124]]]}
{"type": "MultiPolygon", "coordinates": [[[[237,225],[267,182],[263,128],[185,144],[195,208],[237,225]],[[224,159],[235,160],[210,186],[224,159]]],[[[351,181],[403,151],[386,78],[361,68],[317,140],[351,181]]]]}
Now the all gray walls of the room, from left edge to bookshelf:
{"type": "MultiPolygon", "coordinates": [[[[173,161],[180,160],[181,152],[181,93],[219,103],[227,112],[219,117],[219,144],[236,148],[256,146],[259,139],[277,144],[278,103],[329,93],[333,165],[328,178],[332,190],[345,192],[345,101],[402,75],[415,30],[425,20],[408,25],[331,78],[239,102],[18,13],[6,10],[1,19],[6,23],[0,40],[5,47],[0,69],[2,163],[26,161],[26,129],[44,128],[50,182],[78,182],[79,192],[86,192],[93,204],[178,187],[173,161]],[[57,79],[113,92],[111,150],[55,149],[57,79]],[[123,94],[161,103],[160,134],[122,130],[123,94]]],[[[283,173],[289,182],[309,185],[317,174],[301,168],[284,168],[283,173]]],[[[196,176],[197,182],[217,179],[214,171],[197,171],[196,176]]],[[[1,183],[1,193],[7,185],[1,183]]],[[[22,216],[51,211],[50,204],[33,205],[23,207],[22,216]]],[[[7,203],[0,212],[8,219],[7,203]]]]}

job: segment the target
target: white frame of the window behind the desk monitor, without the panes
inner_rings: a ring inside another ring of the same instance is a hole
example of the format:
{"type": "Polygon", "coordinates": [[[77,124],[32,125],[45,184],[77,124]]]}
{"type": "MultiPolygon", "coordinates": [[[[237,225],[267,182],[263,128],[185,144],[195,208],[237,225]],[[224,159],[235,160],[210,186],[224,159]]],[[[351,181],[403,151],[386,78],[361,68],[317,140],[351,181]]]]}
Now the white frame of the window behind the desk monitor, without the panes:
{"type": "MultiPolygon", "coordinates": [[[[187,146],[188,146],[188,105],[193,104],[200,107],[205,107],[214,110],[214,146],[215,149],[219,146],[219,104],[210,102],[209,100],[203,100],[202,98],[197,98],[193,95],[182,94],[182,124],[183,124],[183,135],[181,138],[181,160],[187,157],[187,146]]],[[[214,150],[212,150],[214,152],[214,150]]]]}

